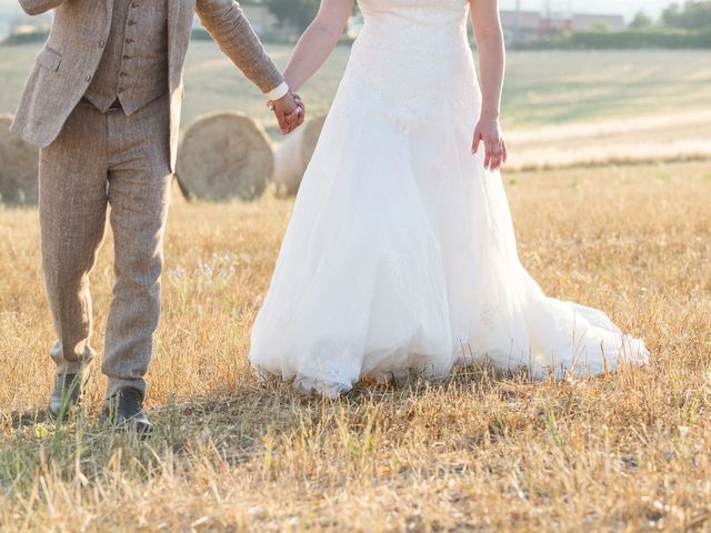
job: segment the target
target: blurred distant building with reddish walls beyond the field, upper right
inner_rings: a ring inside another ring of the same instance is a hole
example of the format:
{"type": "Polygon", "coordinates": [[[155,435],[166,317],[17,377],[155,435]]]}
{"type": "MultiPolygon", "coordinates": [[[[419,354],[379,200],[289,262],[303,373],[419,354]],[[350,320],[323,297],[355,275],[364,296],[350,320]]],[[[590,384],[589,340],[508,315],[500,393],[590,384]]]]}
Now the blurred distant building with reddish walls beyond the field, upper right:
{"type": "Polygon", "coordinates": [[[543,39],[563,31],[589,31],[599,26],[611,30],[625,28],[624,17],[621,14],[588,14],[588,13],[549,13],[539,11],[513,10],[501,11],[501,24],[507,41],[530,41],[543,39]],[[517,36],[518,31],[518,36],[517,36]]]}

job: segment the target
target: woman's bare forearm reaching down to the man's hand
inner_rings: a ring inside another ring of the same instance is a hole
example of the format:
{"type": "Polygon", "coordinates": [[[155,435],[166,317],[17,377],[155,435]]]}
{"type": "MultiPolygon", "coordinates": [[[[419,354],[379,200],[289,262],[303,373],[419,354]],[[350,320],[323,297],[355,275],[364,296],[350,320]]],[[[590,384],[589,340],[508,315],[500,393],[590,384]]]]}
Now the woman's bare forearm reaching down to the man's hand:
{"type": "Polygon", "coordinates": [[[356,0],[321,0],[319,12],[289,59],[284,79],[294,92],[309,81],[331,54],[343,33],[356,0]]]}

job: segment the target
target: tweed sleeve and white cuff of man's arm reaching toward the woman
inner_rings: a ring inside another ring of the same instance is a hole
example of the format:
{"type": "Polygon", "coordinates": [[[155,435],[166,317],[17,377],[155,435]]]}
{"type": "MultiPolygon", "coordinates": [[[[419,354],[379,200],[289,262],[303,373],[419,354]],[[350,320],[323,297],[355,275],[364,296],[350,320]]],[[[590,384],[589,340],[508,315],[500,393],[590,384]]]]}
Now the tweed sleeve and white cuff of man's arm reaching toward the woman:
{"type": "Polygon", "coordinates": [[[282,88],[276,93],[272,92],[271,99],[284,95],[284,79],[281,72],[267,56],[236,0],[198,0],[197,11],[202,26],[249,80],[266,94],[282,88]]]}

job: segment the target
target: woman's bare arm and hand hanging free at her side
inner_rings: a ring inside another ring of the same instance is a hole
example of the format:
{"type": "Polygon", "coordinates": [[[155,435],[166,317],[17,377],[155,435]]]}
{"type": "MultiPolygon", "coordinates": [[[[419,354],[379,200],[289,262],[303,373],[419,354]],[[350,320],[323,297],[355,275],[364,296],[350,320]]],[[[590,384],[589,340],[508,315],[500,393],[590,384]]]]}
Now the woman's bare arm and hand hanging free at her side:
{"type": "Polygon", "coordinates": [[[507,147],[499,123],[505,70],[505,48],[499,18],[499,1],[469,0],[469,4],[477,38],[482,93],[481,117],[474,132],[472,151],[475,153],[479,143],[483,142],[484,167],[497,170],[502,162],[507,161],[507,147]]]}

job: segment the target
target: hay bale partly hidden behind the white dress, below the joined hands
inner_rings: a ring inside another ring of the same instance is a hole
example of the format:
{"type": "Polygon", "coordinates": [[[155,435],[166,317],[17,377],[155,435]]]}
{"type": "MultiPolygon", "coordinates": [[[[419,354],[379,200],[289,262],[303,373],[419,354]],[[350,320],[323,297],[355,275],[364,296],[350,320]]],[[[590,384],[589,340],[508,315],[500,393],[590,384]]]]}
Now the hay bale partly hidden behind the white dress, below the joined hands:
{"type": "Polygon", "coordinates": [[[274,182],[288,194],[296,194],[319,142],[326,117],[317,117],[299,128],[274,150],[274,182]]]}

